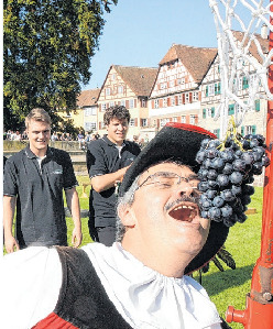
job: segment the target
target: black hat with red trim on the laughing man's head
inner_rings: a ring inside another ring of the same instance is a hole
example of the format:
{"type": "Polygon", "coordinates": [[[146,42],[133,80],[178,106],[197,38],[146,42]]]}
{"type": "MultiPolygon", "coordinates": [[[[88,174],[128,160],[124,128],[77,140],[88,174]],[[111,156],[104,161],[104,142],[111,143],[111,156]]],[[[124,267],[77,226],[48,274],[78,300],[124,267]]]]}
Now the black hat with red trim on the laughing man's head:
{"type": "MultiPolygon", "coordinates": [[[[138,175],[160,161],[178,160],[197,173],[200,165],[195,161],[195,157],[201,141],[205,139],[216,139],[216,135],[197,125],[167,123],[129,167],[120,186],[119,196],[123,196],[129,190],[138,175]]],[[[223,245],[228,232],[229,228],[223,222],[211,221],[207,241],[198,255],[188,264],[185,274],[208,263],[223,245]]]]}

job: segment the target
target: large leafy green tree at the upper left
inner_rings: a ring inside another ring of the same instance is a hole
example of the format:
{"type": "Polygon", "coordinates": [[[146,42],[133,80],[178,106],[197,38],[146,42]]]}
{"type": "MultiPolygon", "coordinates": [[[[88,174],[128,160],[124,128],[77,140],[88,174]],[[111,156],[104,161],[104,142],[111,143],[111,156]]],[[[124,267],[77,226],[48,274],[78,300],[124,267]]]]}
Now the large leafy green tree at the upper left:
{"type": "Polygon", "coordinates": [[[118,0],[3,1],[3,119],[19,128],[34,107],[76,108],[80,85],[90,79],[90,59],[99,46],[103,14],[118,0]]]}

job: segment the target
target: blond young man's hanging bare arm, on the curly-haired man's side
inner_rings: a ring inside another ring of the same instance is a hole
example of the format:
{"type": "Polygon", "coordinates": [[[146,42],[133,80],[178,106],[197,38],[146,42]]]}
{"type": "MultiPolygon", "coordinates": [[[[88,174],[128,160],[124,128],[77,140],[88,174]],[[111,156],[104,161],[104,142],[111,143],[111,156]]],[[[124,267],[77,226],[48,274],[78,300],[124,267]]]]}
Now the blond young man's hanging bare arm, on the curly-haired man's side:
{"type": "Polygon", "coordinates": [[[72,233],[72,243],[74,246],[79,246],[83,240],[81,234],[81,221],[80,221],[80,208],[79,199],[76,187],[65,189],[67,207],[72,213],[74,221],[74,230],[72,233]]]}

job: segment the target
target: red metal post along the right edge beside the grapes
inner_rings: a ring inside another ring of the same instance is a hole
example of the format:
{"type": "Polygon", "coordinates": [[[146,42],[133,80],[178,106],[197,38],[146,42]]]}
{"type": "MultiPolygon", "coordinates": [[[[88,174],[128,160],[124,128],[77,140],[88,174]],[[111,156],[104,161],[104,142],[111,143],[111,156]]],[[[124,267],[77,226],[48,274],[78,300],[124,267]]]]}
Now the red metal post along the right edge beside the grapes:
{"type": "MultiPolygon", "coordinates": [[[[273,0],[270,2],[273,11],[273,0]]],[[[269,50],[272,48],[273,33],[270,32],[269,50]]],[[[273,65],[269,68],[269,88],[273,94],[273,65]]],[[[226,314],[228,322],[240,322],[245,329],[273,329],[273,101],[269,101],[267,108],[266,144],[271,164],[265,168],[264,177],[260,257],[253,270],[245,310],[229,306],[226,314]]]]}

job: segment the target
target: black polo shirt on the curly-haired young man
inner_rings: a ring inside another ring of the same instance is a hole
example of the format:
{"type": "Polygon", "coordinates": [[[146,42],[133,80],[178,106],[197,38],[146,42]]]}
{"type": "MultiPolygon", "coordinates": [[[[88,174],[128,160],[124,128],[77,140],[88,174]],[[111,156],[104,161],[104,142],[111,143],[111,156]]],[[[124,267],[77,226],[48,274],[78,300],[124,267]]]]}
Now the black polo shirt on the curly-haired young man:
{"type": "MultiPolygon", "coordinates": [[[[114,173],[132,163],[139,155],[140,146],[134,142],[124,141],[121,151],[106,135],[92,141],[87,151],[87,168],[89,177],[114,173]]],[[[95,227],[116,226],[116,188],[101,193],[90,190],[89,220],[95,227]]],[[[89,224],[90,224],[89,223],[89,224]]]]}

